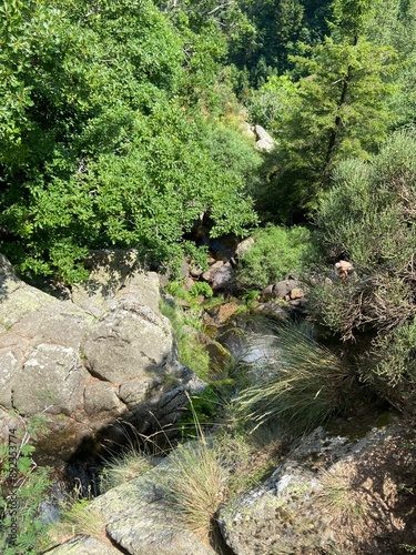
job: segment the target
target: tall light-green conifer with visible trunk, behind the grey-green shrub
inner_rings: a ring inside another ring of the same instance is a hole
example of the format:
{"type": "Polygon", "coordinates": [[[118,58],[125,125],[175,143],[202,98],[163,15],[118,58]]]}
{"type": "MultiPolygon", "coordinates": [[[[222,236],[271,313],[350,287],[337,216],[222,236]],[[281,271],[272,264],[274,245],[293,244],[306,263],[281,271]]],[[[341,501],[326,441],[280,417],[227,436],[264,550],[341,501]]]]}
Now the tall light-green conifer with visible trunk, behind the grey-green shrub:
{"type": "Polygon", "coordinates": [[[333,13],[331,37],[291,57],[296,94],[288,89],[286,114],[273,125],[278,142],[265,169],[267,194],[287,222],[315,210],[339,160],[377,150],[392,117],[396,53],[367,40],[369,2],[335,1],[333,13]]]}

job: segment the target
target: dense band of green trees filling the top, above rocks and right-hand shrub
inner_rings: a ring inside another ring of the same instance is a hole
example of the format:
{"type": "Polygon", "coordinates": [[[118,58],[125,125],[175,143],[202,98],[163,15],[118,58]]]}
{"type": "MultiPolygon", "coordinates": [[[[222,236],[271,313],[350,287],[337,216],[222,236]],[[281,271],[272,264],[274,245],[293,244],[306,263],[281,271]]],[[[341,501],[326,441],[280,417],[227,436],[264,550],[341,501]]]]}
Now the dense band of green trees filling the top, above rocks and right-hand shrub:
{"type": "Polygon", "coordinates": [[[211,236],[311,220],[341,160],[369,160],[414,121],[412,1],[0,11],[0,248],[26,275],[82,279],[106,246],[154,268],[197,259],[201,214],[211,236]],[[241,132],[245,110],[271,155],[241,132]]]}

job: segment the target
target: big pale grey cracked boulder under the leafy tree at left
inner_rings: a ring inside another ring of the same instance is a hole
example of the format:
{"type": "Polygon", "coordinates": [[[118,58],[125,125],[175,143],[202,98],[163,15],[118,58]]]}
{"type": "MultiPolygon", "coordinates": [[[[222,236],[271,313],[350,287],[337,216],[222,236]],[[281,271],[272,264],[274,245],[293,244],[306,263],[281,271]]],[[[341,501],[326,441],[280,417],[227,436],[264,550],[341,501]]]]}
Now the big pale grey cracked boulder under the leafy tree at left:
{"type": "Polygon", "coordinates": [[[42,462],[68,460],[119,417],[139,433],[175,422],[186,393],[204,386],[177,359],[158,275],[135,268],[131,251],[95,253],[93,263],[85,286],[60,301],[0,256],[0,408],[4,422],[10,411],[42,416],[42,462]]]}

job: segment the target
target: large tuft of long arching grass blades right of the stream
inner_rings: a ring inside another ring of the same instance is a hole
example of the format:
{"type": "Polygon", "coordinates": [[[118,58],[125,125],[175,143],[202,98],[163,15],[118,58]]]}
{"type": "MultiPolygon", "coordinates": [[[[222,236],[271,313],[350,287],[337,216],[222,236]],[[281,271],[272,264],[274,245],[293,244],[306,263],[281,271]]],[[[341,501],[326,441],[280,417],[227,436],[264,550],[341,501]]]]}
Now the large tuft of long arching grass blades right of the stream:
{"type": "Polygon", "coordinates": [[[298,324],[277,330],[254,373],[234,403],[254,430],[272,421],[282,433],[303,434],[348,406],[355,392],[354,372],[298,324]]]}

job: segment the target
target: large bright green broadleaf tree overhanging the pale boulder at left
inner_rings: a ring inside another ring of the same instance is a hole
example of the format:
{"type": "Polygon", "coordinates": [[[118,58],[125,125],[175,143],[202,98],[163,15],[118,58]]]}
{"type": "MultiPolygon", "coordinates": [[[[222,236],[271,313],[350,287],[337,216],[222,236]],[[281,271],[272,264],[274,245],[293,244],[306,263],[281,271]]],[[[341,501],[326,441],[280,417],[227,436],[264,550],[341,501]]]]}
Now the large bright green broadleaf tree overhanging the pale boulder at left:
{"type": "Polygon", "coordinates": [[[71,282],[88,249],[111,245],[156,266],[187,249],[200,212],[213,234],[255,222],[256,155],[189,97],[205,69],[186,30],[149,0],[7,6],[0,246],[20,271],[71,282]]]}

